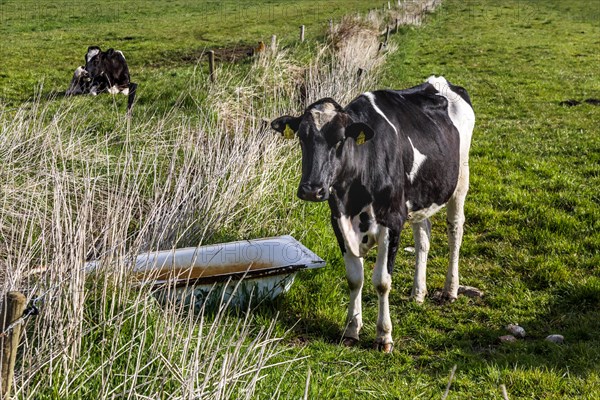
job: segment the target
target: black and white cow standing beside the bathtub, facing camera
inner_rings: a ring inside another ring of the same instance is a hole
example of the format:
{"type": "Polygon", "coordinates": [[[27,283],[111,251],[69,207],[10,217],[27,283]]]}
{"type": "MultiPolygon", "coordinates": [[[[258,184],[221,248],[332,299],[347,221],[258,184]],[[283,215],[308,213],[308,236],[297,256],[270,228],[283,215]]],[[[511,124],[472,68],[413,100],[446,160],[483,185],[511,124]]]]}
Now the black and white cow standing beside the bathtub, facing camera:
{"type": "Polygon", "coordinates": [[[302,148],[298,197],[329,201],[331,224],[350,286],[344,343],[362,327],[363,257],[377,245],[373,284],[379,298],[376,346],[393,348],[388,294],[405,222],[415,239],[412,297],[427,294],[425,270],[429,217],[448,207],[450,263],[443,296],[458,295],[458,257],[469,188],[469,148],[475,114],[469,95],[443,77],[406,90],[367,92],[345,108],[325,98],[300,117],[283,116],[271,127],[297,136],[302,148]]]}

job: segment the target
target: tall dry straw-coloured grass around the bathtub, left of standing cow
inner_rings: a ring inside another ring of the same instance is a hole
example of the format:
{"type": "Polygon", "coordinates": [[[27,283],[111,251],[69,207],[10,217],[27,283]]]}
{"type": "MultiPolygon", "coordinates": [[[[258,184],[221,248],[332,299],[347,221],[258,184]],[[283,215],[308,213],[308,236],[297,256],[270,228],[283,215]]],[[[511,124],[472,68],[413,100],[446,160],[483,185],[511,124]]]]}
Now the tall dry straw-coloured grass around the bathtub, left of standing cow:
{"type": "Polygon", "coordinates": [[[112,110],[99,116],[112,124],[99,136],[90,110],[67,101],[0,110],[0,292],[44,295],[27,326],[17,396],[255,395],[285,350],[275,322],[159,306],[150,289],[130,287],[122,260],[223,232],[285,233],[266,221],[298,169],[295,144],[275,140],[265,121],[372,89],[381,23],[344,19],[308,66],[290,49],[265,52],[243,78],[223,68],[219,85],[191,89],[215,99],[194,118],[173,110],[132,123],[112,110]],[[89,259],[107,268],[87,277],[89,259]]]}

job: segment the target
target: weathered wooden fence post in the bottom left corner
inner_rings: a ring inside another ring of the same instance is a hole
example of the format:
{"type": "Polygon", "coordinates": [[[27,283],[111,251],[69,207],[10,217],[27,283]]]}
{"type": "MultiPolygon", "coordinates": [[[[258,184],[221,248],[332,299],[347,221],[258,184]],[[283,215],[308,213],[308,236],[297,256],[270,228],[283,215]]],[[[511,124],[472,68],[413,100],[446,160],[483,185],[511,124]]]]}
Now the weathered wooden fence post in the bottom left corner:
{"type": "MultiPolygon", "coordinates": [[[[0,310],[0,333],[13,322],[21,318],[27,298],[20,292],[8,292],[4,298],[4,307],[0,310]]],[[[15,325],[4,336],[0,336],[0,400],[8,400],[10,397],[10,386],[15,374],[15,362],[17,360],[17,348],[21,337],[21,325],[15,325]]]]}

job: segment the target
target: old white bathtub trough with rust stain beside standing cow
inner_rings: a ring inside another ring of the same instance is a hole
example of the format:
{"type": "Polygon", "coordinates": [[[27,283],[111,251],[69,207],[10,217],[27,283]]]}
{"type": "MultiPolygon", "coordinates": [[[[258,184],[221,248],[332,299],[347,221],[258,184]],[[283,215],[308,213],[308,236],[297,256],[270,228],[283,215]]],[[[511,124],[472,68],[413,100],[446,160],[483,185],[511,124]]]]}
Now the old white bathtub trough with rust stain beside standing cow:
{"type": "Polygon", "coordinates": [[[285,293],[297,271],[324,266],[292,236],[278,236],[140,254],[133,274],[141,284],[153,285],[161,302],[201,307],[223,301],[243,307],[251,298],[256,303],[285,293]]]}

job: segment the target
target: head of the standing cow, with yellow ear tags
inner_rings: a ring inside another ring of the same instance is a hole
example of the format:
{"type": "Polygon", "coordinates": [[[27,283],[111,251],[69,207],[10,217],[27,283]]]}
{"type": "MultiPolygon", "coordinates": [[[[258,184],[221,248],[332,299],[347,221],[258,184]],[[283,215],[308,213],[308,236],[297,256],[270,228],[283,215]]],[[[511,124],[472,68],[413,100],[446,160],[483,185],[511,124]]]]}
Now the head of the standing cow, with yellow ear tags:
{"type": "Polygon", "coordinates": [[[330,98],[312,104],[300,117],[279,117],[271,127],[287,139],[300,139],[302,179],[298,197],[308,201],[327,200],[331,185],[344,167],[345,155],[373,137],[368,125],[354,122],[330,98]]]}

